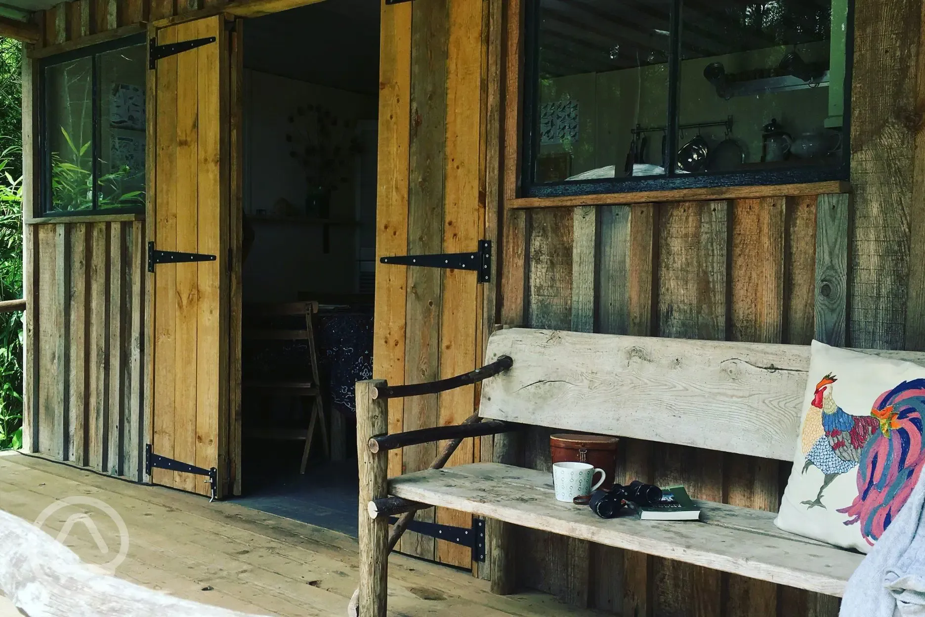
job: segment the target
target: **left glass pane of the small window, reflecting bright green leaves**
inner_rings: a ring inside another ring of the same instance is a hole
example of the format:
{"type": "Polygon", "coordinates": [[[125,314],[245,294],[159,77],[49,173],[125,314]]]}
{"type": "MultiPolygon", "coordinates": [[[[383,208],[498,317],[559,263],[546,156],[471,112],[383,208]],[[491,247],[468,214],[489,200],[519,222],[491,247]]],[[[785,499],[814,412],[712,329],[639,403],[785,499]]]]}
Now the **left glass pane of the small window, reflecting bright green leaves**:
{"type": "Polygon", "coordinates": [[[52,211],[93,207],[93,62],[80,58],[44,71],[45,135],[52,211]]]}

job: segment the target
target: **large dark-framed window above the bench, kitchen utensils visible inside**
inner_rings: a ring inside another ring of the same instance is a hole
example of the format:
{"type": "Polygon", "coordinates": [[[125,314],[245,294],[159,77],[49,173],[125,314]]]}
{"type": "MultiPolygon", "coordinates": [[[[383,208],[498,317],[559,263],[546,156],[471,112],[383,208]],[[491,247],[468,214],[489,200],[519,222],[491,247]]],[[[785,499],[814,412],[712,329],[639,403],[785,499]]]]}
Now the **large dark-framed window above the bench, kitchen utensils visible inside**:
{"type": "Polygon", "coordinates": [[[847,179],[848,0],[524,2],[524,196],[847,179]]]}

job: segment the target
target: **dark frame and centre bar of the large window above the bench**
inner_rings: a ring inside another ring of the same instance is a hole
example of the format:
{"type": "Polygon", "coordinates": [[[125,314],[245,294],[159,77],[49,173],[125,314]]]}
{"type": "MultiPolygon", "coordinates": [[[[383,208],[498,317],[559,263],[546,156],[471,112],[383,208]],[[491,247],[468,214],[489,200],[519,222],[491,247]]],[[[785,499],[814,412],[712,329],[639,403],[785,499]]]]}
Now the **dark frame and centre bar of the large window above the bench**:
{"type": "Polygon", "coordinates": [[[854,0],[848,0],[845,29],[845,106],[842,134],[843,155],[840,164],[819,167],[790,167],[758,169],[751,171],[713,171],[693,174],[678,174],[674,171],[678,151],[678,127],[680,105],[678,88],[680,83],[681,11],[683,0],[672,0],[670,24],[671,40],[668,55],[668,114],[665,118],[668,139],[667,149],[671,162],[665,176],[628,176],[613,179],[559,180],[536,182],[536,160],[539,155],[539,139],[536,135],[539,117],[539,22],[541,0],[520,0],[523,3],[523,72],[521,115],[521,136],[518,148],[521,161],[518,166],[518,197],[556,198],[609,193],[645,193],[656,191],[684,191],[687,189],[724,189],[733,187],[811,184],[850,179],[851,153],[851,81],[854,66],[854,0]]]}

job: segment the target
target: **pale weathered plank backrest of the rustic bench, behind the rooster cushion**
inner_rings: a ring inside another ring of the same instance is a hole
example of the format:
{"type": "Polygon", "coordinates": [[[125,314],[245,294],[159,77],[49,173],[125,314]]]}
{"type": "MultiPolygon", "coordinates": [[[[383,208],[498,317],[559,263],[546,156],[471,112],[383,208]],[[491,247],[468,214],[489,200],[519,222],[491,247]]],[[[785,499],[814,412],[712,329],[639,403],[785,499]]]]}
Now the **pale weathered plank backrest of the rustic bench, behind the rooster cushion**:
{"type": "Polygon", "coordinates": [[[504,354],[514,364],[483,383],[484,418],[793,459],[807,345],[511,328],[488,340],[488,362],[504,354]]]}

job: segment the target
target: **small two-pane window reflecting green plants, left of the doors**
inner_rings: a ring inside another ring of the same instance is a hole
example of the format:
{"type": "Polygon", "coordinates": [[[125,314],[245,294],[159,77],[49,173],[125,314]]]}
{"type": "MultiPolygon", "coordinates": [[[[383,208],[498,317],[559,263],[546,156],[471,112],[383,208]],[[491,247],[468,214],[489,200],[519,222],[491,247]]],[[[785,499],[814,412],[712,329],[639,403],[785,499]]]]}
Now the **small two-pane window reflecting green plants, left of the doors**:
{"type": "Polygon", "coordinates": [[[40,65],[44,216],[143,212],[143,35],[40,65]]]}

